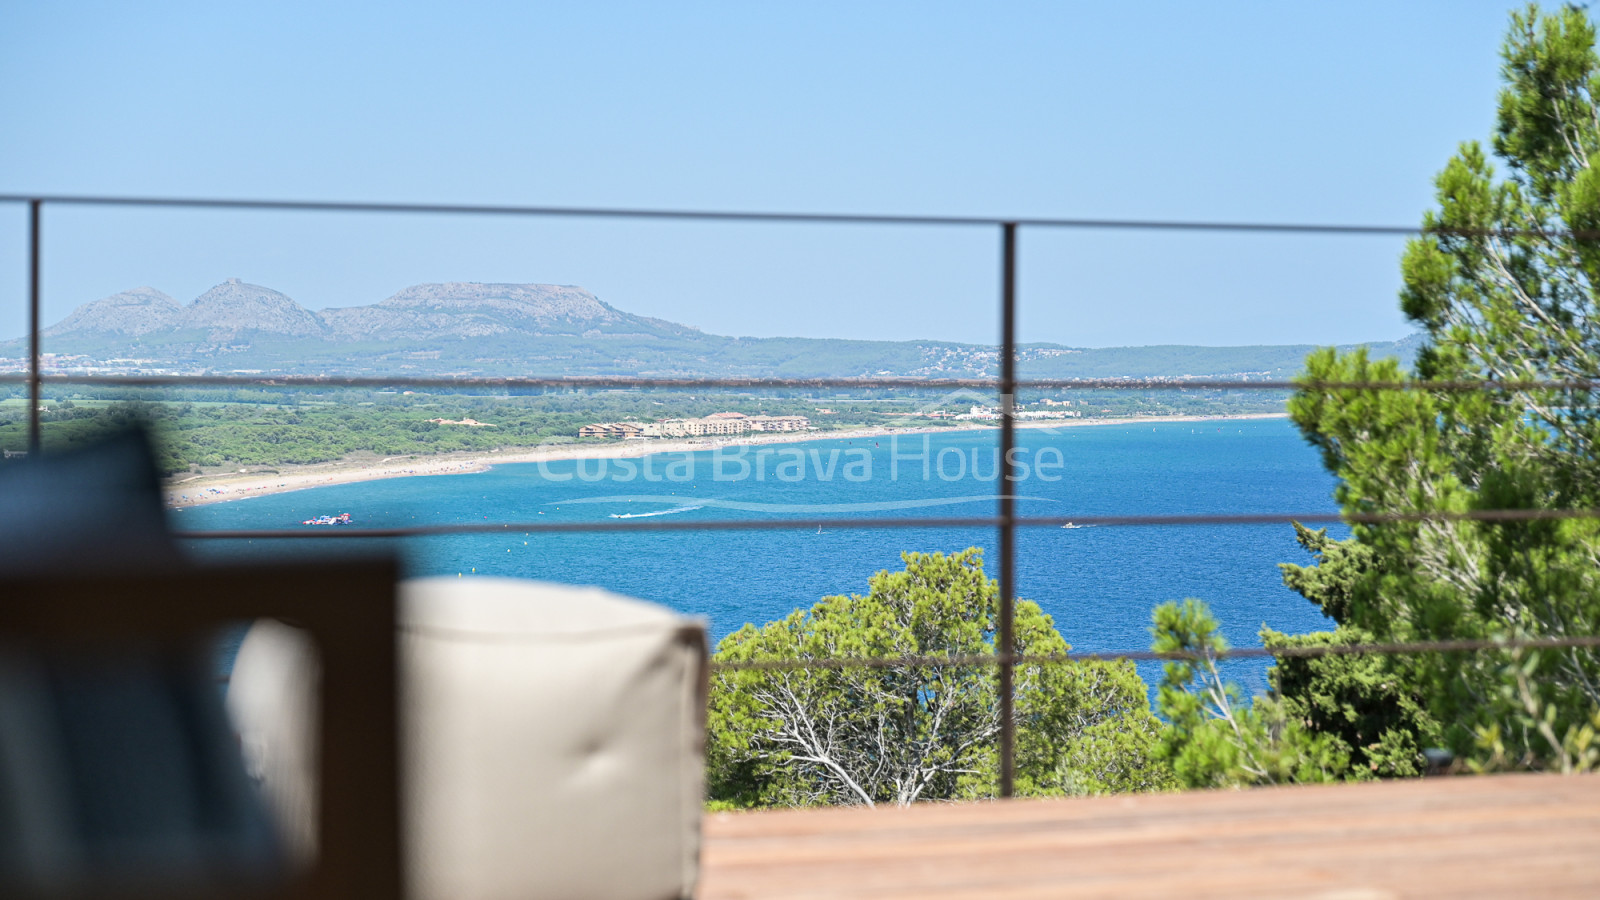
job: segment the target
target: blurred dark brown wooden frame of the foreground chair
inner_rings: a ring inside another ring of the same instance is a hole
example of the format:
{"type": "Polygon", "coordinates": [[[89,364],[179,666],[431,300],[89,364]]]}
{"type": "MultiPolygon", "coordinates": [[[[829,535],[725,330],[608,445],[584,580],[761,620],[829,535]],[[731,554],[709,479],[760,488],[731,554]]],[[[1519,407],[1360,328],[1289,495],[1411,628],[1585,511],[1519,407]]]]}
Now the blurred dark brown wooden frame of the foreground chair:
{"type": "MultiPolygon", "coordinates": [[[[403,895],[395,661],[389,559],[195,565],[157,573],[0,580],[0,641],[22,647],[182,642],[262,617],[304,628],[322,655],[318,854],[266,895],[403,895]]],[[[219,895],[258,894],[240,884],[219,895]]],[[[126,897],[96,886],[98,897],[126,897]]]]}

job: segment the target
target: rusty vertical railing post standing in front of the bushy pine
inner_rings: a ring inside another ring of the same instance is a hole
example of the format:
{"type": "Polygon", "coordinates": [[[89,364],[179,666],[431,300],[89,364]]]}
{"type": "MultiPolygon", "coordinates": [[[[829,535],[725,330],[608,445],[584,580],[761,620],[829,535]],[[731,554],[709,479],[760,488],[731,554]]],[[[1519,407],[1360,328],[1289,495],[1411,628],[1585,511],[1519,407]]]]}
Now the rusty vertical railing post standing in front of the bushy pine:
{"type": "Polygon", "coordinates": [[[1016,783],[1016,223],[1000,226],[1000,796],[1016,783]]]}

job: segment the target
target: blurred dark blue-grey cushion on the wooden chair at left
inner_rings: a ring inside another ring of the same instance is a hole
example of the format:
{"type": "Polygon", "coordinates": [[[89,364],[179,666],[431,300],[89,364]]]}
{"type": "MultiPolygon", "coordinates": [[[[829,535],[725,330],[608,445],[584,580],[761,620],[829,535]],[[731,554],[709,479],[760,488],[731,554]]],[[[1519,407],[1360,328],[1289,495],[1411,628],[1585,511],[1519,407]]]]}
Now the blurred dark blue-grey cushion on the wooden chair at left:
{"type": "MultiPolygon", "coordinates": [[[[0,463],[0,594],[8,578],[182,565],[142,434],[0,463]]],[[[278,870],[208,644],[0,642],[0,895],[278,870]]]]}

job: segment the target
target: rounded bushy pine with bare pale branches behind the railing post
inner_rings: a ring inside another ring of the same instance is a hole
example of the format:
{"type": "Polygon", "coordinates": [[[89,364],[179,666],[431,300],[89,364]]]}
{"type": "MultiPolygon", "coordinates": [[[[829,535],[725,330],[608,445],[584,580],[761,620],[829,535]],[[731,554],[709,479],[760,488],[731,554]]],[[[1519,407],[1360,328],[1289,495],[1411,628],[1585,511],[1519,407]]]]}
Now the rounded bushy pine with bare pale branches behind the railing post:
{"type": "MultiPolygon", "coordinates": [[[[866,594],[824,597],[717,660],[992,655],[998,586],[976,548],[902,554],[866,594]]],[[[1013,652],[1069,650],[1048,615],[1016,604],[1013,652]]],[[[707,778],[714,807],[898,804],[995,796],[1000,705],[994,665],[896,663],[723,669],[712,679],[707,778]]],[[[1016,666],[1016,791],[1096,794],[1170,786],[1160,732],[1131,663],[1016,666]]]]}

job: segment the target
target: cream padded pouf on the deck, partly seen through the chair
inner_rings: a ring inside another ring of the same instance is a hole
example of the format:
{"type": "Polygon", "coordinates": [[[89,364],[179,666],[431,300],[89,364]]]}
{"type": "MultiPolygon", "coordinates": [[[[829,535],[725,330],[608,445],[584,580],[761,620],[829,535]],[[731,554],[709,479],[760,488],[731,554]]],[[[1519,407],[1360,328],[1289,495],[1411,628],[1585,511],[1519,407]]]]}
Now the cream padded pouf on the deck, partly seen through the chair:
{"type": "MultiPolygon", "coordinates": [[[[398,628],[414,897],[693,895],[699,623],[595,588],[424,578],[402,585],[398,628]]],[[[309,658],[304,636],[258,623],[229,685],[246,757],[301,854],[318,790],[309,658]]]]}

